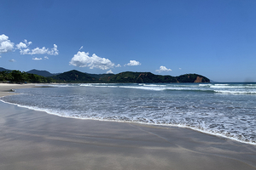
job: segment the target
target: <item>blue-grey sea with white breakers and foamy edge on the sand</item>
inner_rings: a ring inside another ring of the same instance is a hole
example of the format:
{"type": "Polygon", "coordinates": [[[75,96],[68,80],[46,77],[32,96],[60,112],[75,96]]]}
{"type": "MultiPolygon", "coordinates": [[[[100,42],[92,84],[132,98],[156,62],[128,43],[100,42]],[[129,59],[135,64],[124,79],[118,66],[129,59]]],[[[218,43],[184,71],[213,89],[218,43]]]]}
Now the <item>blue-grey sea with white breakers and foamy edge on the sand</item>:
{"type": "Polygon", "coordinates": [[[256,83],[56,84],[3,102],[56,116],[191,129],[256,144],[256,83]]]}

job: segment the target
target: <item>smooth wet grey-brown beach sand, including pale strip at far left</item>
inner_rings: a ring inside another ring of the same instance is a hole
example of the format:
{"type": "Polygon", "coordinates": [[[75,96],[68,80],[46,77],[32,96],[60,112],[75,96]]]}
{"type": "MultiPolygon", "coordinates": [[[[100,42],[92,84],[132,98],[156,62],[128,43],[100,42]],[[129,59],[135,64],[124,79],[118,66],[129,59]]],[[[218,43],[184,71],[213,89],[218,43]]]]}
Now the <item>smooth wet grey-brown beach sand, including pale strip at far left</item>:
{"type": "MultiPolygon", "coordinates": [[[[0,95],[31,87],[1,85],[0,95]]],[[[79,120],[0,102],[0,129],[1,170],[256,169],[255,145],[188,128],[79,120]]]]}

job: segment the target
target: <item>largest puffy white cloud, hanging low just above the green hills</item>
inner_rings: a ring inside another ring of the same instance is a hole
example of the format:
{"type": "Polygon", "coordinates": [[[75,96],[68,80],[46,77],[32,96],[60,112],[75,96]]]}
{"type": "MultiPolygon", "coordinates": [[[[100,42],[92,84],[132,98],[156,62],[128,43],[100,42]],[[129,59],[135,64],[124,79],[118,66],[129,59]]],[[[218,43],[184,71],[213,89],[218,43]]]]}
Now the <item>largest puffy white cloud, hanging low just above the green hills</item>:
{"type": "Polygon", "coordinates": [[[90,67],[90,69],[98,68],[102,70],[108,70],[114,66],[114,64],[109,59],[98,57],[96,54],[92,54],[90,57],[89,53],[80,51],[78,54],[73,55],[73,58],[69,64],[79,67],[90,67]]]}

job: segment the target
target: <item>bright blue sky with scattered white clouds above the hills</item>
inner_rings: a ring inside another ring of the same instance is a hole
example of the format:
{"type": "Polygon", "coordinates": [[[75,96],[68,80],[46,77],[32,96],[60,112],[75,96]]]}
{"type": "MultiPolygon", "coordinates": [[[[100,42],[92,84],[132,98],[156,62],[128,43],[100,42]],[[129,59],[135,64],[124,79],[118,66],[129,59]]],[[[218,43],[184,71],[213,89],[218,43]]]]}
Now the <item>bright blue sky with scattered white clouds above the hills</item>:
{"type": "Polygon", "coordinates": [[[255,0],[0,0],[0,67],[256,82],[255,0]]]}

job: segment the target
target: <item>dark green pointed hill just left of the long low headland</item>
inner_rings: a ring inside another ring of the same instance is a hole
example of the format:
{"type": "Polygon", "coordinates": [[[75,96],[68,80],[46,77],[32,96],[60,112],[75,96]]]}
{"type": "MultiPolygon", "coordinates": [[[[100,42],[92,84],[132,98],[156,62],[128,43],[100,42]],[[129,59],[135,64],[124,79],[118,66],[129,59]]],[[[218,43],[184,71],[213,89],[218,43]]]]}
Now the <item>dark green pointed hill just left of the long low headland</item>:
{"type": "Polygon", "coordinates": [[[98,82],[96,77],[91,77],[86,73],[76,70],[63,72],[51,78],[57,82],[98,82]]]}

